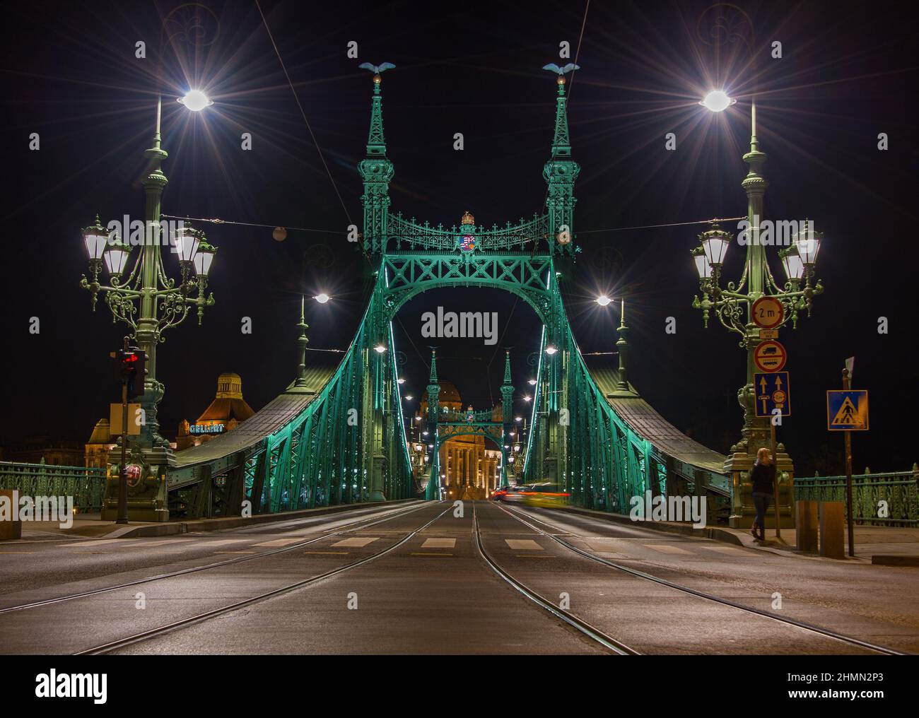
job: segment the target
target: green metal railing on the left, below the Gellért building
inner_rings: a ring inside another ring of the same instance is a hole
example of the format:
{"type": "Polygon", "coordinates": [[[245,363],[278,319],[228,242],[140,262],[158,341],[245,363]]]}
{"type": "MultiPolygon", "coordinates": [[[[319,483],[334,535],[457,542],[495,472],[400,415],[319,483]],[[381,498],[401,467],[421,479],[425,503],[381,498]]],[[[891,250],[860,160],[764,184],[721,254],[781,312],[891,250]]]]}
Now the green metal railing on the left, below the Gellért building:
{"type": "Polygon", "coordinates": [[[80,513],[102,510],[108,470],[85,466],[50,466],[0,461],[0,488],[20,496],[73,496],[80,513]]]}

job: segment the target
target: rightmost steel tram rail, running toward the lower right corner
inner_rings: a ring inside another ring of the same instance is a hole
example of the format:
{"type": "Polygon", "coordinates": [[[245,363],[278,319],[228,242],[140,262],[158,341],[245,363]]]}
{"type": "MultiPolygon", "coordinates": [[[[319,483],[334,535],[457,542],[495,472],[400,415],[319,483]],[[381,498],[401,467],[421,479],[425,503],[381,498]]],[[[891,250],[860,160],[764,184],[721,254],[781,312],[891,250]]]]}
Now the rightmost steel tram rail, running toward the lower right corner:
{"type": "Polygon", "coordinates": [[[794,628],[798,628],[803,631],[810,632],[811,634],[817,634],[825,638],[831,638],[845,645],[857,646],[858,648],[863,648],[869,651],[873,651],[875,653],[879,653],[884,656],[907,656],[909,655],[909,654],[903,653],[902,651],[897,651],[885,645],[872,644],[872,643],[869,643],[868,641],[862,641],[861,639],[855,638],[850,635],[840,634],[836,631],[833,631],[832,629],[823,628],[822,626],[814,625],[813,623],[806,623],[806,622],[797,621],[795,619],[788,618],[785,616],[779,616],[776,613],[772,613],[770,611],[764,611],[762,609],[754,608],[753,606],[747,606],[747,605],[744,605],[743,603],[738,603],[733,600],[721,598],[720,596],[715,596],[705,591],[700,591],[698,589],[691,589],[687,586],[682,586],[678,583],[667,580],[666,578],[659,578],[659,577],[653,576],[652,574],[645,573],[644,571],[640,571],[636,568],[623,566],[621,564],[616,563],[615,561],[610,561],[609,559],[603,558],[602,556],[591,554],[589,551],[584,551],[584,549],[579,548],[573,544],[570,544],[569,542],[565,541],[563,538],[561,538],[560,536],[556,534],[545,532],[542,529],[540,529],[539,526],[536,526],[533,523],[526,521],[526,519],[521,518],[521,516],[525,516],[527,519],[530,519],[534,522],[541,523],[544,526],[548,526],[550,529],[553,529],[555,531],[566,533],[568,535],[576,535],[576,534],[572,534],[562,529],[562,527],[560,526],[556,526],[553,523],[544,521],[542,519],[538,519],[535,516],[532,516],[528,513],[523,513],[516,509],[508,509],[505,506],[502,506],[500,504],[499,504],[499,508],[505,511],[505,513],[508,514],[509,516],[512,516],[513,518],[515,518],[516,521],[521,522],[524,525],[528,526],[528,528],[530,528],[531,530],[550,538],[552,541],[556,542],[557,544],[561,544],[563,547],[565,547],[569,551],[572,551],[574,554],[583,556],[584,558],[587,558],[598,564],[602,564],[603,566],[621,571],[632,577],[642,578],[644,580],[652,581],[653,583],[659,584],[661,586],[665,586],[669,589],[675,589],[675,590],[681,591],[691,596],[695,596],[699,599],[714,601],[724,606],[730,606],[733,609],[738,609],[740,611],[752,613],[754,615],[766,618],[771,621],[775,621],[777,623],[783,623],[785,625],[792,626],[794,628]]]}

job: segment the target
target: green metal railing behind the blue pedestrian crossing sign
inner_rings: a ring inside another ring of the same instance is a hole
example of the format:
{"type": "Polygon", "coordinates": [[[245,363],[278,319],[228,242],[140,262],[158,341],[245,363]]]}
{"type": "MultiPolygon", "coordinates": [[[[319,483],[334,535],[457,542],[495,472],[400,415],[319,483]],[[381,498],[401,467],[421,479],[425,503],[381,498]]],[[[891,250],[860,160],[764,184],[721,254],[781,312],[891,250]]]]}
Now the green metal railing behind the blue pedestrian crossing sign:
{"type": "MultiPolygon", "coordinates": [[[[795,500],[845,503],[845,477],[796,477],[795,500]]],[[[919,526],[919,470],[853,476],[852,513],[857,523],[919,526]]]]}

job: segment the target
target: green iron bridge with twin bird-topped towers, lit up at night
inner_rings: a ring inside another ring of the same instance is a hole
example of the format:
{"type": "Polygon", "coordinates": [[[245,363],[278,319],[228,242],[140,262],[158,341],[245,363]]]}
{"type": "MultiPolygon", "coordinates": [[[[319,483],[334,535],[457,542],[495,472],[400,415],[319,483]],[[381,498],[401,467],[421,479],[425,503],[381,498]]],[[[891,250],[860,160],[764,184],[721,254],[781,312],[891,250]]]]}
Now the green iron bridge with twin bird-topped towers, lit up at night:
{"type": "MultiPolygon", "coordinates": [[[[727,508],[732,479],[725,457],[686,437],[644,401],[625,375],[627,327],[619,327],[618,366],[588,363],[565,310],[573,277],[574,185],[580,172],[569,140],[564,76],[556,91],[554,134],[543,177],[546,211],[491,229],[469,213],[459,227],[403,219],[391,212],[394,174],[383,134],[380,74],[373,78],[363,178],[363,250],[373,285],[354,340],[336,365],[307,364],[301,316],[300,366],[277,398],[226,433],[176,454],[168,476],[173,496],[191,515],[254,513],[330,504],[439,499],[438,449],[450,437],[482,435],[501,449],[514,429],[509,356],[502,415],[452,417],[438,411],[437,359],[432,355],[426,429],[434,452],[413,466],[403,423],[392,320],[412,297],[441,287],[493,287],[520,297],[542,324],[528,445],[516,481],[562,485],[578,506],[623,512],[630,497],[694,492],[727,508]]],[[[714,508],[714,507],[712,507],[714,508]]],[[[709,515],[714,515],[710,512],[709,515]]]]}

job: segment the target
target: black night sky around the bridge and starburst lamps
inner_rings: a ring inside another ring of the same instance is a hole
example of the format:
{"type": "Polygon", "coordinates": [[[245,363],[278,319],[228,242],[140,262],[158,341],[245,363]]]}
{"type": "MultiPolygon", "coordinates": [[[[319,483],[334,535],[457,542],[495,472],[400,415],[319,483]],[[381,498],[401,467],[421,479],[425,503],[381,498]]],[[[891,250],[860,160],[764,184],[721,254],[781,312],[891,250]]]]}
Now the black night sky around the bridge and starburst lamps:
{"type": "MultiPolygon", "coordinates": [[[[854,439],[856,471],[903,470],[919,459],[911,341],[919,73],[908,4],[742,3],[754,20],[751,60],[743,39],[720,47],[699,39],[708,2],[594,0],[584,20],[580,1],[477,8],[263,0],[310,129],[254,3],[206,3],[212,16],[201,16],[198,44],[167,43],[158,79],[162,20],[179,5],[6,8],[0,443],[34,434],[82,443],[119,397],[108,353],[126,332],[101,300],[92,313],[78,286],[87,272],[80,230],[96,213],[104,222],[125,213],[142,219],[137,181],[159,90],[170,155],[164,212],[268,225],[198,225],[220,248],[209,287],[217,304],[202,326],[191,317],[165,332],[158,378],[168,435],[207,407],[223,371],[243,377],[255,409],[289,384],[301,295],[312,348],[350,342],[366,271],[345,237],[347,225],[361,224],[356,164],[372,84],[360,62],[396,65],[382,84],[391,209],[445,225],[469,210],[479,224],[503,225],[544,210],[555,76],[540,68],[569,62],[559,58],[567,40],[581,66],[569,84],[569,122],[581,164],[574,231],[583,301],[568,310],[582,350],[615,349],[618,305],[601,309],[593,297],[627,297],[630,380],[642,396],[722,453],[740,438],[743,350],[715,321],[703,330],[691,307],[698,281],[689,251],[706,227],[623,228],[745,215],[741,155],[755,86],[768,155],[766,218],[811,218],[826,238],[818,264],[826,291],[813,316],[780,337],[794,393],[779,440],[799,476],[840,473],[843,440],[825,430],[824,391],[841,386],[845,357],[854,354],[854,386],[871,392],[871,431],[854,439]],[[139,40],[143,60],[134,56],[139,40]],[[352,40],[357,60],[346,56],[352,40]],[[774,40],[781,59],[769,55],[774,40]],[[190,86],[205,88],[215,105],[188,113],[176,97],[190,86]],[[717,116],[698,107],[714,87],[738,104],[717,116]],[[31,132],[40,133],[39,151],[28,149],[31,132]],[[251,151],[240,147],[243,132],[253,135],[251,151]],[[463,151],[453,149],[456,132],[463,151]],[[676,134],[675,151],[664,149],[667,132],[676,134]],[[879,151],[879,132],[889,151],[879,151]],[[289,228],[286,241],[272,239],[276,225],[289,228]],[[323,290],[330,303],[309,301],[323,290]],[[40,319],[39,334],[28,331],[31,317],[40,319]],[[241,331],[244,317],[252,334],[241,331]],[[668,317],[675,334],[664,331],[668,317]],[[889,333],[879,334],[879,317],[889,333]]],[[[773,273],[784,277],[769,252],[773,273]]],[[[742,258],[733,246],[728,278],[739,277],[742,258]]],[[[176,276],[175,256],[165,263],[176,276]]],[[[403,393],[419,397],[426,384],[431,342],[421,336],[421,314],[437,306],[498,312],[497,345],[437,340],[440,376],[464,402],[484,409],[500,400],[505,346],[513,347],[518,396],[528,390],[528,355],[539,343],[533,311],[498,290],[457,289],[417,297],[400,312],[403,393]]]]}

